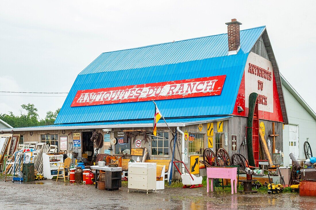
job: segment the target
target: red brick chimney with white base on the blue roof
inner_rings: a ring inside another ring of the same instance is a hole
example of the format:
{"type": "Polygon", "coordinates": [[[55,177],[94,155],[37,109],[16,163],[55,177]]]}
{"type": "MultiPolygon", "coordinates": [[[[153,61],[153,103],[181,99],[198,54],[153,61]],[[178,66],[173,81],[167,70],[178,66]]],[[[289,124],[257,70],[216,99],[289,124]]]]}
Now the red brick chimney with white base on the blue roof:
{"type": "Polygon", "coordinates": [[[240,29],[236,19],[232,19],[231,22],[225,23],[227,26],[227,35],[228,35],[228,55],[237,54],[240,49],[240,29]]]}

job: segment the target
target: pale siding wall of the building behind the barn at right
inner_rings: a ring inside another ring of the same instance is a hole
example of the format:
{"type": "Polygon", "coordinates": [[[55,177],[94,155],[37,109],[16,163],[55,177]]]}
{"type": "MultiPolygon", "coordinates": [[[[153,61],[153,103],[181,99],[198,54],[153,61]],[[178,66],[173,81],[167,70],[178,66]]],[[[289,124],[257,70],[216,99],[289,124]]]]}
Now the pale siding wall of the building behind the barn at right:
{"type": "MultiPolygon", "coordinates": [[[[283,85],[282,85],[283,86],[283,85]]],[[[309,138],[313,156],[316,156],[316,121],[295,97],[283,86],[286,110],[289,124],[299,126],[299,159],[305,159],[304,142],[309,138]]],[[[284,166],[289,166],[289,125],[284,125],[283,130],[284,166]]]]}

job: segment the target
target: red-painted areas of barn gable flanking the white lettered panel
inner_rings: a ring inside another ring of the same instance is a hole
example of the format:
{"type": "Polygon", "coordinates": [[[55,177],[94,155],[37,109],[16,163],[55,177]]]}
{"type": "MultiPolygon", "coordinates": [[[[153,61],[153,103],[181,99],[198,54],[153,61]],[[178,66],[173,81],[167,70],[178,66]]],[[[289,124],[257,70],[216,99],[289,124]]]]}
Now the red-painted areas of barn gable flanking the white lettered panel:
{"type": "MultiPolygon", "coordinates": [[[[234,106],[234,115],[244,116],[248,117],[248,108],[245,107],[245,72],[242,76],[240,87],[238,90],[235,106],[234,106]],[[237,112],[237,106],[240,106],[244,109],[243,112],[238,113],[237,112]]],[[[279,94],[277,92],[276,88],[276,80],[275,75],[273,77],[273,113],[270,112],[264,112],[259,110],[259,119],[260,120],[271,120],[276,122],[283,122],[283,115],[281,110],[281,104],[279,100],[279,94]]]]}

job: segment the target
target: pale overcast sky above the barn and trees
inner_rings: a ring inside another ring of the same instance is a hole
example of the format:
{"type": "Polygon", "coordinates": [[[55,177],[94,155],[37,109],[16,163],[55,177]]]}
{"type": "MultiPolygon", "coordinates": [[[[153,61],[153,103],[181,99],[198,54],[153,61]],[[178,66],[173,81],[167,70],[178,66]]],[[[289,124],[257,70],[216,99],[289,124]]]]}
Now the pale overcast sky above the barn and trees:
{"type": "MultiPolygon", "coordinates": [[[[226,33],[236,18],[267,26],[281,73],[316,110],[315,1],[0,2],[0,91],[69,92],[102,52],[226,33]]],[[[41,118],[65,100],[0,95],[0,113],[33,103],[41,118]]]]}

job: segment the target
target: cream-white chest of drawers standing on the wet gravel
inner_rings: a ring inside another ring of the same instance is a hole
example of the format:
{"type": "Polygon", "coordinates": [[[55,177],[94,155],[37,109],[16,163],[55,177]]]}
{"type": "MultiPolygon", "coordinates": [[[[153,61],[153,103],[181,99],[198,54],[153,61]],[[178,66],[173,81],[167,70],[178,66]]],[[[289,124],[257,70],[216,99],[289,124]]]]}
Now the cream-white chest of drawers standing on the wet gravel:
{"type": "Polygon", "coordinates": [[[155,190],[156,163],[128,163],[128,191],[129,189],[155,190]]]}

